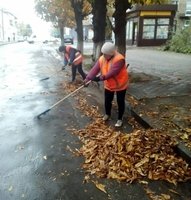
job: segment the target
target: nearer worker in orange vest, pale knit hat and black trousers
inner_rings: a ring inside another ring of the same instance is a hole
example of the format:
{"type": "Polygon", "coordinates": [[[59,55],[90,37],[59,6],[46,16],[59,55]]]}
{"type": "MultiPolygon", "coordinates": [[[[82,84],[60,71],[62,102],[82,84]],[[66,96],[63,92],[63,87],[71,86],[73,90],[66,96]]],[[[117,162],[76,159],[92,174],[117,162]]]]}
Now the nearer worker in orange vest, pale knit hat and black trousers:
{"type": "Polygon", "coordinates": [[[105,115],[104,121],[111,117],[111,108],[114,94],[117,95],[118,119],[115,127],[123,125],[123,114],[125,111],[125,94],[128,87],[128,72],[125,64],[125,58],[116,51],[115,45],[106,42],[102,48],[102,56],[87,74],[84,84],[90,80],[104,81],[105,95],[105,115]],[[101,73],[100,76],[96,76],[101,73]]]}

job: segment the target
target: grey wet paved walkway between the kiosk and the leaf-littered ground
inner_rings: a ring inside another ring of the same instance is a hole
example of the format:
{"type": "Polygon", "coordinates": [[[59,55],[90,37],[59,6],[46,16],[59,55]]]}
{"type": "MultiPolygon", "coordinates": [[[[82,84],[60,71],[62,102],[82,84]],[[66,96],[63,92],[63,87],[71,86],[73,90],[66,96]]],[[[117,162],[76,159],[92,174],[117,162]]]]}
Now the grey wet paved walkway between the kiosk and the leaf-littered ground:
{"type": "Polygon", "coordinates": [[[129,92],[137,98],[191,94],[191,55],[134,48],[126,58],[134,75],[129,92]]]}

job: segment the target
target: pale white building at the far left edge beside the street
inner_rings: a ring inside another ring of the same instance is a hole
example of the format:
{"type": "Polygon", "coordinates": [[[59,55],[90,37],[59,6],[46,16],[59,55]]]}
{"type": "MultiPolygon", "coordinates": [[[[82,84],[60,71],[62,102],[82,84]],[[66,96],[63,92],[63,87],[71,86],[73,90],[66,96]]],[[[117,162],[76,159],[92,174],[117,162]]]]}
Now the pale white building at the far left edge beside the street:
{"type": "Polygon", "coordinates": [[[0,41],[15,41],[17,37],[17,18],[9,11],[0,9],[0,41]]]}

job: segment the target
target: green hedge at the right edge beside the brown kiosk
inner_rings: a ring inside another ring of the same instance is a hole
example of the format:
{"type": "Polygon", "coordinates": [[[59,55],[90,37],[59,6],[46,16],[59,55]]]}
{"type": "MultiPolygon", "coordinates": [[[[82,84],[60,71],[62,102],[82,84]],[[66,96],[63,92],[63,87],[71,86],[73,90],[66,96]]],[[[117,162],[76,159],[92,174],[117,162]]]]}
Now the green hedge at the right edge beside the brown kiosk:
{"type": "Polygon", "coordinates": [[[191,54],[191,27],[175,33],[172,39],[167,41],[163,50],[191,54]]]}

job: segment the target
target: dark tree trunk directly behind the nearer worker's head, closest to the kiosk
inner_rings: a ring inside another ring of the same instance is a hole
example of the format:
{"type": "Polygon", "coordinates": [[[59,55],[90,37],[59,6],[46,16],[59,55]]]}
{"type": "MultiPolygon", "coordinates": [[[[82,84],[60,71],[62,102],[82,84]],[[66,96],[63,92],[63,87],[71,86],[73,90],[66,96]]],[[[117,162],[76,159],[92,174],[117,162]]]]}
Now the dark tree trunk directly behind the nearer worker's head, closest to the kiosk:
{"type": "Polygon", "coordinates": [[[126,10],[131,8],[127,0],[115,0],[115,44],[118,51],[125,56],[126,52],[126,10]]]}

